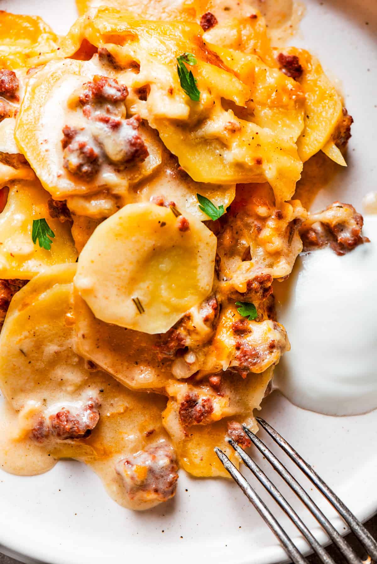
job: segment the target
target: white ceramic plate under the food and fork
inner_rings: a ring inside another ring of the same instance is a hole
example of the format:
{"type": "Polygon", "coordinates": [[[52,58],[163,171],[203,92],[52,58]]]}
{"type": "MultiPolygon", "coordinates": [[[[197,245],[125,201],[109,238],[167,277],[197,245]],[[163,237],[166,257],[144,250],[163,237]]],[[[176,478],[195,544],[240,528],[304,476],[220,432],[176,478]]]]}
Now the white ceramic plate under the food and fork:
{"type": "MultiPolygon", "coordinates": [[[[362,196],[376,190],[377,2],[306,0],[306,6],[301,38],[294,43],[317,54],[330,76],[341,81],[346,106],[355,120],[349,167],[339,169],[315,205],[341,198],[361,209],[362,196]]],[[[66,32],[76,16],[73,0],[0,0],[0,8],[40,15],[58,33],[66,32]]],[[[328,417],[294,407],[274,392],[263,403],[262,416],[311,462],[358,518],[365,520],[376,512],[377,411],[328,417]]],[[[261,437],[265,438],[262,431],[261,437]]],[[[256,459],[262,468],[267,466],[260,457],[256,459]]],[[[274,474],[271,468],[267,470],[274,474]]],[[[1,472],[0,548],[23,562],[50,564],[119,564],[151,558],[155,564],[171,558],[180,564],[191,564],[193,559],[199,564],[286,560],[274,535],[232,483],[193,479],[184,472],[179,482],[171,503],[132,513],[115,504],[97,476],[78,462],[59,462],[49,473],[31,478],[1,472]]],[[[309,484],[304,478],[302,483],[309,484]]],[[[303,506],[286,487],[281,489],[307,517],[315,536],[326,542],[303,506]]],[[[257,491],[271,506],[258,486],[257,491]]],[[[315,491],[313,497],[338,530],[345,532],[330,505],[315,491]]],[[[276,515],[298,547],[307,550],[284,514],[276,509],[276,515]]]]}

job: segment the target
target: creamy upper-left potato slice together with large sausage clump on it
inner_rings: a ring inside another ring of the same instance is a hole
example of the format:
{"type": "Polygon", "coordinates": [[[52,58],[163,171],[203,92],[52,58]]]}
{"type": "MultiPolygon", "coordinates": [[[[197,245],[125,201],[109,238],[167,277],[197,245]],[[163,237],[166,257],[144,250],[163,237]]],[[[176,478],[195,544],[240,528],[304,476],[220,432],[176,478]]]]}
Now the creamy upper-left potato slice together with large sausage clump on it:
{"type": "MultiPolygon", "coordinates": [[[[16,142],[44,188],[57,200],[92,195],[106,188],[121,202],[130,184],[148,176],[161,163],[155,132],[137,120],[129,122],[125,118],[122,99],[127,89],[123,83],[116,87],[114,96],[110,89],[109,99],[105,83],[105,98],[94,93],[92,105],[85,104],[86,93],[90,95],[96,83],[93,87],[89,84],[87,90],[84,85],[94,76],[99,80],[103,76],[110,81],[116,79],[114,69],[103,68],[98,57],[92,61],[50,61],[30,78],[25,90],[15,129],[16,142]],[[80,96],[84,96],[83,103],[80,96]],[[122,155],[130,152],[133,141],[144,150],[144,160],[139,155],[138,161],[119,162],[119,151],[122,155]]],[[[90,215],[101,217],[95,211],[90,215]]]]}

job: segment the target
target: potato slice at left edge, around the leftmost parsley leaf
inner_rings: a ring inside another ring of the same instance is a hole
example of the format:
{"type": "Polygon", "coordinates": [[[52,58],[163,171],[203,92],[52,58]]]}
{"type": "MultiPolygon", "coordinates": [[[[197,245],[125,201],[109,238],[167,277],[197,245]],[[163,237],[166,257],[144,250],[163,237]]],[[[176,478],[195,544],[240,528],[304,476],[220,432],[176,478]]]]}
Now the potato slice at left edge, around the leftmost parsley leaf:
{"type": "MultiPolygon", "coordinates": [[[[22,169],[11,170],[19,173],[22,169]]],[[[31,170],[30,173],[33,174],[31,170]]],[[[52,265],[76,260],[70,226],[50,217],[49,197],[38,180],[10,184],[6,206],[0,213],[1,278],[28,280],[52,265]],[[33,220],[41,218],[46,219],[55,233],[50,250],[32,241],[33,220]]]]}

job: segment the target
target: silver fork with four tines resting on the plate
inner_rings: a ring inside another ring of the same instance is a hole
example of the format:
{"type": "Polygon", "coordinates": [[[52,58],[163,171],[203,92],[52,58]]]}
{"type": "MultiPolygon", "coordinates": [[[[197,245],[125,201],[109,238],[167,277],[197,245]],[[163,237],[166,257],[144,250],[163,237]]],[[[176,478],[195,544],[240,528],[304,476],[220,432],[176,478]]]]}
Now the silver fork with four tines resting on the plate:
{"type": "MultiPolygon", "coordinates": [[[[359,541],[367,550],[369,554],[368,558],[365,561],[362,561],[361,558],[357,556],[354,550],[350,547],[347,541],[337,532],[335,527],[333,527],[327,517],[322,513],[319,509],[318,505],[316,505],[311,499],[311,497],[306,493],[304,488],[300,486],[297,482],[296,478],[288,472],[287,468],[276,458],[276,456],[270,451],[269,448],[259,439],[246,425],[242,425],[246,435],[252,440],[255,447],[262,453],[263,456],[270,462],[272,467],[280,474],[280,476],[287,482],[288,486],[292,488],[294,493],[298,497],[300,497],[301,501],[306,505],[307,509],[314,515],[317,519],[319,524],[324,528],[327,532],[330,539],[333,541],[334,544],[339,548],[340,552],[345,557],[345,561],[349,562],[349,564],[367,564],[371,562],[371,558],[377,562],[377,543],[374,538],[371,536],[369,531],[362,525],[360,521],[350,512],[350,510],[344,505],[343,501],[337,497],[336,493],[334,493],[326,483],[324,483],[323,479],[319,477],[319,475],[314,472],[313,468],[305,462],[304,459],[294,450],[293,447],[275,429],[268,425],[268,423],[262,419],[261,417],[257,417],[257,421],[259,425],[263,427],[270,435],[272,439],[274,439],[275,443],[277,443],[285,453],[296,463],[298,468],[306,474],[306,476],[313,482],[313,484],[318,488],[320,492],[326,497],[328,501],[333,505],[333,507],[337,510],[337,512],[343,517],[344,521],[349,526],[350,530],[357,536],[359,541]]],[[[298,528],[301,534],[305,537],[311,548],[313,548],[314,552],[318,554],[318,557],[321,562],[324,564],[335,564],[333,559],[331,558],[330,554],[328,554],[327,550],[325,550],[315,539],[313,534],[311,534],[309,528],[306,527],[305,523],[302,521],[300,517],[298,517],[297,513],[294,511],[291,505],[289,505],[288,501],[281,495],[278,488],[271,482],[269,478],[267,478],[266,474],[259,468],[257,464],[250,458],[248,454],[230,437],[227,438],[227,441],[234,450],[239,453],[242,461],[244,464],[253,472],[254,476],[258,478],[259,482],[263,484],[266,488],[268,493],[274,498],[276,503],[278,503],[281,509],[287,513],[288,517],[293,521],[294,525],[298,528]]],[[[250,484],[246,481],[244,476],[236,469],[235,465],[228,459],[228,457],[220,450],[218,447],[215,448],[216,455],[219,457],[220,461],[224,465],[224,468],[229,472],[233,480],[240,486],[241,490],[245,493],[246,497],[248,497],[249,501],[252,502],[255,509],[257,509],[259,515],[265,519],[267,525],[271,528],[271,530],[275,533],[275,535],[280,540],[280,543],[283,545],[285,552],[287,552],[288,556],[292,559],[294,564],[307,564],[306,558],[302,556],[300,550],[296,548],[292,540],[289,538],[287,533],[284,531],[283,527],[279,524],[277,519],[272,515],[270,510],[267,508],[265,503],[262,499],[258,496],[257,492],[250,486],[250,484]]]]}

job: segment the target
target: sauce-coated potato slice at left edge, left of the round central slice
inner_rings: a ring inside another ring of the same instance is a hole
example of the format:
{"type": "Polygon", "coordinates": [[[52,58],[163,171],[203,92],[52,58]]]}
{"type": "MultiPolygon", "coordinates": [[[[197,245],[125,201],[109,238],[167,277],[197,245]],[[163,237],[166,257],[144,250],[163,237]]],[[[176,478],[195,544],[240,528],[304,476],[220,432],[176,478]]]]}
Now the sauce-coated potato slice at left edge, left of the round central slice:
{"type": "Polygon", "coordinates": [[[12,299],[0,335],[0,382],[15,409],[31,399],[42,402],[44,382],[54,402],[55,394],[73,394],[89,375],[73,352],[72,316],[66,315],[75,271],[75,264],[49,268],[12,299]]]}

